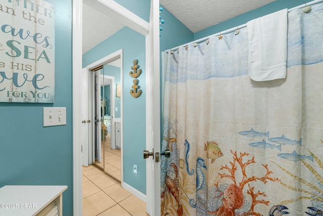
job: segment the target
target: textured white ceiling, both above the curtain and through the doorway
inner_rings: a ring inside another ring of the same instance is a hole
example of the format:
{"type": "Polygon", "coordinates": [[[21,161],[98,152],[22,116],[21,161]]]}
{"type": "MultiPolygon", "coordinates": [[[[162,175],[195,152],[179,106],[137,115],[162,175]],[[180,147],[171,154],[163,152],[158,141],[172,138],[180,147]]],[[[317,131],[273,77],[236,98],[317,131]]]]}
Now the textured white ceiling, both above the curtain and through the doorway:
{"type": "MultiPolygon", "coordinates": [[[[275,1],[159,0],[159,3],[195,33],[275,1]]],[[[83,54],[123,27],[119,21],[83,4],[83,54]]]]}

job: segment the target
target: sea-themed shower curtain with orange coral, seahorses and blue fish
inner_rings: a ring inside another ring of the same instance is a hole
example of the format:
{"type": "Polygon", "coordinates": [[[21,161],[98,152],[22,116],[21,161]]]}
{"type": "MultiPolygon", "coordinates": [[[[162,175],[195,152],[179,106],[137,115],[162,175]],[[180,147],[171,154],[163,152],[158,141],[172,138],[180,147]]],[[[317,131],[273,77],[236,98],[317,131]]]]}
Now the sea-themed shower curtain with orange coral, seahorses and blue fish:
{"type": "Polygon", "coordinates": [[[321,216],[323,5],[288,13],[284,79],[249,78],[239,31],[168,51],[161,215],[321,216]]]}

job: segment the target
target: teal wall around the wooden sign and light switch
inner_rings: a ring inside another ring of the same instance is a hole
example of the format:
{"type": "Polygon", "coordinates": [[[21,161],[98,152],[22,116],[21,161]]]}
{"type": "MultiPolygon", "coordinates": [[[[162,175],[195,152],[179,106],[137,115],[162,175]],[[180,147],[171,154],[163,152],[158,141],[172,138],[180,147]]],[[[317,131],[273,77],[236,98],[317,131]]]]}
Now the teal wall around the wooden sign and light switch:
{"type": "Polygon", "coordinates": [[[73,213],[72,1],[55,7],[55,103],[0,103],[0,187],[67,185],[63,214],[73,213]],[[66,107],[66,125],[43,127],[43,107],[66,107]]]}

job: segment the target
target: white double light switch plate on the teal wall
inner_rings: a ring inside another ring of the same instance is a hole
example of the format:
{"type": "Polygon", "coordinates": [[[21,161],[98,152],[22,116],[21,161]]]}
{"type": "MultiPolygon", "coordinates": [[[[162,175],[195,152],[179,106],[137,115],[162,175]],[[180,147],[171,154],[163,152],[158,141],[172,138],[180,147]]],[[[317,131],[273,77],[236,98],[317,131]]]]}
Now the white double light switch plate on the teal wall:
{"type": "Polygon", "coordinates": [[[66,107],[43,107],[43,126],[66,125],[66,107]]]}

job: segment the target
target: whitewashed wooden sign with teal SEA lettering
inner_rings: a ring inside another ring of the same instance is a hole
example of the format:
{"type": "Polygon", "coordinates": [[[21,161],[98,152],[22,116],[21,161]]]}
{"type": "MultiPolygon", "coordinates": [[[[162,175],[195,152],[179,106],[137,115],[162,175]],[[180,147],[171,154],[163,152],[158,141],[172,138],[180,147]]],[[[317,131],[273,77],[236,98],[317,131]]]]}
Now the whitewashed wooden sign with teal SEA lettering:
{"type": "Polygon", "coordinates": [[[54,7],[0,2],[0,102],[55,102],[54,7]]]}

